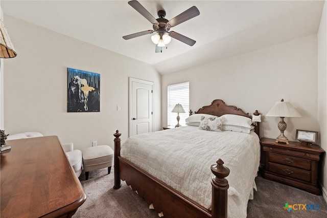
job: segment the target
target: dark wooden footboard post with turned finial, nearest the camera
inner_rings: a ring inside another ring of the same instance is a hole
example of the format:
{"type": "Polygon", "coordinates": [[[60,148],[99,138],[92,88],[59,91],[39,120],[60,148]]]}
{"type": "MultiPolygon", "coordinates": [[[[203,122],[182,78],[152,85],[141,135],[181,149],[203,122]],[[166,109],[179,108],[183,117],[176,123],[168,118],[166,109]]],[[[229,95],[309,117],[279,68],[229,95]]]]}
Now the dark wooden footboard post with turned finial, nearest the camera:
{"type": "Polygon", "coordinates": [[[214,173],[211,184],[212,192],[212,218],[227,218],[227,189],[228,181],[225,179],[229,175],[229,169],[223,166],[224,162],[219,159],[217,164],[211,165],[211,171],[214,173]]]}

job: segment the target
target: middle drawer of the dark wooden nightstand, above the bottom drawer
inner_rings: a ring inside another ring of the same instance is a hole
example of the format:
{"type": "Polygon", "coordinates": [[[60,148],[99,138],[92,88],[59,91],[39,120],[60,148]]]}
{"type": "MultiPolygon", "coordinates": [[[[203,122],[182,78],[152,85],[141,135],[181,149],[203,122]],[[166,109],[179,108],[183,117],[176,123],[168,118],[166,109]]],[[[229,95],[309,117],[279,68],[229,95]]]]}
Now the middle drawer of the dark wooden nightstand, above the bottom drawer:
{"type": "Polygon", "coordinates": [[[311,160],[309,159],[297,158],[288,155],[281,155],[273,152],[269,152],[268,157],[270,162],[285,164],[285,165],[307,169],[307,170],[311,169],[311,160]]]}

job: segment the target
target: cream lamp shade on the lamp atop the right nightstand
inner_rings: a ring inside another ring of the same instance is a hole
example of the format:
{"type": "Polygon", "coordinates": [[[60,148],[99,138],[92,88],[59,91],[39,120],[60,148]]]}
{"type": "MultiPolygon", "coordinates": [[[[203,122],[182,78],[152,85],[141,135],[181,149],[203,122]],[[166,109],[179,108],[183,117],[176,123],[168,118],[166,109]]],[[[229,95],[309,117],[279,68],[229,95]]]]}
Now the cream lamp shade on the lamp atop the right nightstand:
{"type": "Polygon", "coordinates": [[[266,114],[268,117],[301,117],[290,102],[276,102],[266,114]]]}

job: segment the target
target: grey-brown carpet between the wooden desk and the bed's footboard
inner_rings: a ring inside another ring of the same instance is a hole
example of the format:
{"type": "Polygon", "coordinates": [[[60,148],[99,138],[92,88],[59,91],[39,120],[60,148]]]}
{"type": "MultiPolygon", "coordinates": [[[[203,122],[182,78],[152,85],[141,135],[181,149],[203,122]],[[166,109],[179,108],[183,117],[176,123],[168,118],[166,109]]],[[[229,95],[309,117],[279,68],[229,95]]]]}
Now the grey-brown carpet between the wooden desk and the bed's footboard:
{"type": "Polygon", "coordinates": [[[73,218],[159,217],[125,182],[122,182],[120,189],[112,188],[113,167],[110,174],[107,173],[107,168],[90,171],[85,181],[85,173],[82,172],[79,179],[87,197],[73,218]]]}

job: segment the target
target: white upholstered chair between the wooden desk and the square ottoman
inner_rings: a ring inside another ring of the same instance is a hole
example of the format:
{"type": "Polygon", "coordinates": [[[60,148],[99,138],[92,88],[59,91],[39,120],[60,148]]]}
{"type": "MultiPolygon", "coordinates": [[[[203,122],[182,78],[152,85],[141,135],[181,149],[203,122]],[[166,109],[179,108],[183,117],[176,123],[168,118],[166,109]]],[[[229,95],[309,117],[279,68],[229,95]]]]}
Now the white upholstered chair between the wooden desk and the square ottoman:
{"type": "Polygon", "coordinates": [[[73,142],[62,143],[61,147],[65,151],[69,163],[73,166],[76,176],[79,177],[82,173],[83,166],[82,151],[78,149],[74,150],[73,142]]]}

